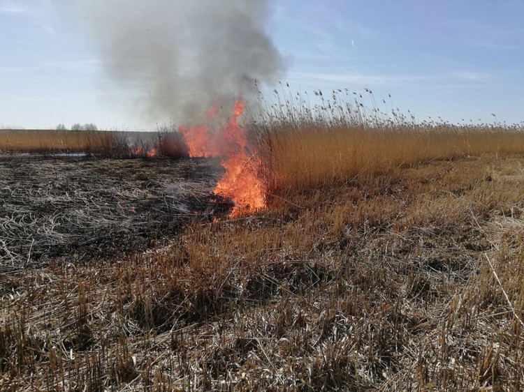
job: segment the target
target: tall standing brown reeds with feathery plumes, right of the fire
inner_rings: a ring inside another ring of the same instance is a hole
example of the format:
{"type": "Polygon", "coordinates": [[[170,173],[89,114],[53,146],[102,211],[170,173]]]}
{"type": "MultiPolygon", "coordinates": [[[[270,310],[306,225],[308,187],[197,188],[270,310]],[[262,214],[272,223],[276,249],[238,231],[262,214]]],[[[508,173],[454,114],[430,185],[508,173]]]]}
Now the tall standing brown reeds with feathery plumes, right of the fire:
{"type": "Polygon", "coordinates": [[[395,110],[381,112],[372,91],[366,93],[371,109],[361,94],[342,90],[330,99],[315,91],[321,103],[314,106],[303,96],[276,90],[276,103],[261,103],[248,127],[270,193],[364,181],[430,160],[524,153],[522,125],[418,123],[395,110]]]}

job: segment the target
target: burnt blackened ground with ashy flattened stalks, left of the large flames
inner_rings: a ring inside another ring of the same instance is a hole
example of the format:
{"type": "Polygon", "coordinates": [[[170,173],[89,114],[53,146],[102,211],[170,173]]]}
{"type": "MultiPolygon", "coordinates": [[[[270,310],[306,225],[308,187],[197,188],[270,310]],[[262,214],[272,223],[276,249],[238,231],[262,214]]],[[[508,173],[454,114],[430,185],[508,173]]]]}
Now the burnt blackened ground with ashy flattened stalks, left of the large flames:
{"type": "Polygon", "coordinates": [[[0,272],[171,239],[191,219],[226,213],[212,195],[219,175],[206,159],[0,158],[0,272]]]}

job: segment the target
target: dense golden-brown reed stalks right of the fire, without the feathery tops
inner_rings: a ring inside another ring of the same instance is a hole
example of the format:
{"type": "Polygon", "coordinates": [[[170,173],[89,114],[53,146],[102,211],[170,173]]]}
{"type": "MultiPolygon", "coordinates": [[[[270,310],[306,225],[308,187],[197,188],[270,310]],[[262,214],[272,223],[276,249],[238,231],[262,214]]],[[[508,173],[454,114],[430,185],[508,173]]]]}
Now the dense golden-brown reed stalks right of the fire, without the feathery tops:
{"type": "Polygon", "coordinates": [[[361,181],[428,160],[524,153],[524,132],[504,128],[287,126],[266,131],[263,162],[277,193],[361,181]]]}

